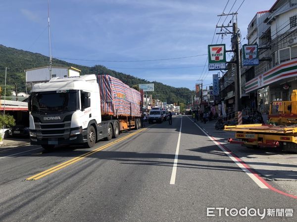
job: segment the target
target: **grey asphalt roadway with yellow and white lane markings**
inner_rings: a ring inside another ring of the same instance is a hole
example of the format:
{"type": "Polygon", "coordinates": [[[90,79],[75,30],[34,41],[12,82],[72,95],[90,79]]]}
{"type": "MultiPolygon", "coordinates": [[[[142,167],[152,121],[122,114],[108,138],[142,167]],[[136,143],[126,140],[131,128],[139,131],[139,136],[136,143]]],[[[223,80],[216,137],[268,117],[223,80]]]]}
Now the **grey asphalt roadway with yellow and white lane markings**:
{"type": "Polygon", "coordinates": [[[1,151],[0,221],[260,220],[227,217],[225,209],[221,217],[217,209],[207,217],[207,207],[266,209],[264,221],[297,221],[297,199],[260,188],[187,116],[146,125],[92,149],[1,151]],[[282,209],[284,216],[277,216],[282,209]],[[285,209],[293,209],[293,217],[285,209]]]}

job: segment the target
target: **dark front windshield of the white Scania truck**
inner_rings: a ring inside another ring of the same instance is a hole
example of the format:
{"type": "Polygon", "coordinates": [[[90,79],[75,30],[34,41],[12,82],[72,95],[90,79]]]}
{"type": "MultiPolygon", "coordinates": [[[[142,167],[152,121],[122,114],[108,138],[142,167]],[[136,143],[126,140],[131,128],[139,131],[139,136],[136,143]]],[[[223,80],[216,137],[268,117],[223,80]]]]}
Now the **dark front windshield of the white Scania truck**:
{"type": "Polygon", "coordinates": [[[32,111],[76,111],[78,110],[78,92],[67,90],[57,93],[37,92],[32,93],[32,111]]]}

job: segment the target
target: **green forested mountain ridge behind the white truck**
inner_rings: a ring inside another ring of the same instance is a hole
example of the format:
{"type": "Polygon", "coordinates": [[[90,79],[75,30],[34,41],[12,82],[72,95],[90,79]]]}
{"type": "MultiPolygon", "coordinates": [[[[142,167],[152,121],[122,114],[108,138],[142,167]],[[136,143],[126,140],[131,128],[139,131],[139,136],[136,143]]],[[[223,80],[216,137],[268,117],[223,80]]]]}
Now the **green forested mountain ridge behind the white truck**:
{"type": "MultiPolygon", "coordinates": [[[[186,104],[191,100],[191,96],[194,95],[194,91],[191,91],[188,88],[176,88],[162,84],[160,82],[150,82],[145,79],[137,78],[129,74],[119,73],[113,70],[109,70],[104,66],[96,65],[93,67],[80,66],[73,63],[67,63],[62,60],[53,59],[53,66],[65,66],[65,67],[75,67],[82,71],[82,74],[109,74],[112,75],[130,87],[138,84],[144,83],[154,83],[154,92],[151,93],[153,98],[157,98],[156,95],[159,95],[159,99],[167,104],[178,103],[186,104]]],[[[6,47],[0,45],[0,86],[2,87],[1,94],[3,95],[4,88],[4,74],[5,67],[8,67],[7,70],[7,79],[6,79],[6,95],[14,90],[14,84],[17,84],[18,92],[26,91],[25,85],[25,72],[24,70],[49,66],[49,57],[44,56],[39,53],[32,53],[29,51],[19,50],[15,48],[6,47]]]]}

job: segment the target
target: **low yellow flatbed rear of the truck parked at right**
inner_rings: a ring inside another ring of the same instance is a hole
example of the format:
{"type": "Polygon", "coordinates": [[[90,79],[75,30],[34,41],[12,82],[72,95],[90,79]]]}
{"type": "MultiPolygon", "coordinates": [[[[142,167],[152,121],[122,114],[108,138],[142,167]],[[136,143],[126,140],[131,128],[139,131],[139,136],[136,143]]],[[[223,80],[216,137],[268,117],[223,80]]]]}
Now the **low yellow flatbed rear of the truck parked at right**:
{"type": "Polygon", "coordinates": [[[229,143],[245,147],[282,148],[297,153],[297,125],[245,124],[225,126],[226,131],[235,131],[229,143]]]}

